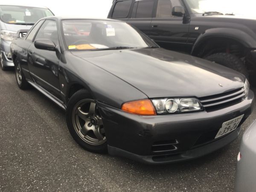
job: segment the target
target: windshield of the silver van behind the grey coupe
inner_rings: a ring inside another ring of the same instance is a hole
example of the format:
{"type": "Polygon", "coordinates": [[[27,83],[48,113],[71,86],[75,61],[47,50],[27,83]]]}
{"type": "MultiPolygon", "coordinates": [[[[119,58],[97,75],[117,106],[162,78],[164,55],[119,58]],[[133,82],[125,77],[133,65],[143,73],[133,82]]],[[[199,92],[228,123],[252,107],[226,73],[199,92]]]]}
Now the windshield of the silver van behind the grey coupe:
{"type": "Polygon", "coordinates": [[[0,19],[10,24],[34,24],[39,19],[52,15],[49,9],[24,6],[0,6],[0,19]]]}

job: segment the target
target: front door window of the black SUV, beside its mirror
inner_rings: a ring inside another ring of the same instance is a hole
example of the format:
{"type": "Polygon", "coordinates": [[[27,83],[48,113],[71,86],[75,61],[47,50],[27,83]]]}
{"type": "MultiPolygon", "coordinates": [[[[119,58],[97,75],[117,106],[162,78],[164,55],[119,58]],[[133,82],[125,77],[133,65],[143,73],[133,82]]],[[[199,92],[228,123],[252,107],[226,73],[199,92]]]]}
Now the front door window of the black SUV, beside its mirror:
{"type": "Polygon", "coordinates": [[[172,16],[172,7],[182,6],[180,0],[158,0],[157,18],[169,18],[172,16]]]}

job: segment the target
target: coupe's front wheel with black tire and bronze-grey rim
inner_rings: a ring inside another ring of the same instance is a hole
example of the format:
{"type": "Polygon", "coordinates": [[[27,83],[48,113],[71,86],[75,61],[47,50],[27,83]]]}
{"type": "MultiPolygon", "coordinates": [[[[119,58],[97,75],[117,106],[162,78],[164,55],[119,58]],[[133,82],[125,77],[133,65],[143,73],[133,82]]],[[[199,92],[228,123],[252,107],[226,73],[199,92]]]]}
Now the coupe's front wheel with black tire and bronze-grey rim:
{"type": "Polygon", "coordinates": [[[82,148],[95,153],[107,152],[102,118],[87,90],[81,89],[70,98],[66,119],[70,134],[82,148]]]}

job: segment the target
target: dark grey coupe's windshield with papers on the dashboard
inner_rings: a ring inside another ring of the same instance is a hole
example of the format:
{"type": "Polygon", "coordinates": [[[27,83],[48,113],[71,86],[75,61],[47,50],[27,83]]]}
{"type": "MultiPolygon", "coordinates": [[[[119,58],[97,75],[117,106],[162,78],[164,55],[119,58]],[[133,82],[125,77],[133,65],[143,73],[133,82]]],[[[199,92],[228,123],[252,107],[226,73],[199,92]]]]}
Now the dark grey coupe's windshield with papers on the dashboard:
{"type": "Polygon", "coordinates": [[[62,20],[69,50],[129,49],[156,46],[133,27],[119,21],[62,20]]]}

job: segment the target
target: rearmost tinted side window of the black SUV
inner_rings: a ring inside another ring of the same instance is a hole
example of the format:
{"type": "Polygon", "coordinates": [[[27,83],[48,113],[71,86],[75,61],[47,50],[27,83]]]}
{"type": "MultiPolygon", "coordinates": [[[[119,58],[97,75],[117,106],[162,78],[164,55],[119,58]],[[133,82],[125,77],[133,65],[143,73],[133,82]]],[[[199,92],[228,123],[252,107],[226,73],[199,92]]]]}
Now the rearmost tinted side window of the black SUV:
{"type": "Polygon", "coordinates": [[[128,16],[131,7],[131,0],[119,1],[116,3],[112,17],[113,18],[125,18],[128,16]]]}

